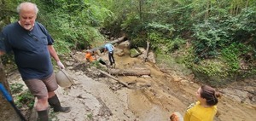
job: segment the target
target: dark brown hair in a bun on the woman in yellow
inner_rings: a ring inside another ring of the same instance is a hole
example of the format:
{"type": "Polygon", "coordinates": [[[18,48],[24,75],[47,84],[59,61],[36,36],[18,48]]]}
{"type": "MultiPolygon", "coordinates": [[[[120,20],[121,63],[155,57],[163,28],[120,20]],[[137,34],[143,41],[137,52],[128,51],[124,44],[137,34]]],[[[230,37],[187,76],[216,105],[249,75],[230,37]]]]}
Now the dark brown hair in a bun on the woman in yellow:
{"type": "Polygon", "coordinates": [[[221,94],[218,93],[215,89],[208,85],[201,86],[201,98],[207,100],[208,106],[214,106],[218,104],[218,98],[221,97],[221,94]]]}

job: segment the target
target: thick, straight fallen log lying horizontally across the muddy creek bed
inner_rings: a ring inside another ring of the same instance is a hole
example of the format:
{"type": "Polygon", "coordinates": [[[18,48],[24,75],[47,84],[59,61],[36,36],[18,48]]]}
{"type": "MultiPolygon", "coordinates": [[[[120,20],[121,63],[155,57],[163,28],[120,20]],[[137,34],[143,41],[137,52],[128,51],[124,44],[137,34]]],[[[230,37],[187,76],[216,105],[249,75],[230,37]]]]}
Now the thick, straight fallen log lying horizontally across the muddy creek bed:
{"type": "Polygon", "coordinates": [[[123,76],[150,75],[150,70],[148,68],[108,69],[108,72],[113,75],[123,75],[123,76]]]}

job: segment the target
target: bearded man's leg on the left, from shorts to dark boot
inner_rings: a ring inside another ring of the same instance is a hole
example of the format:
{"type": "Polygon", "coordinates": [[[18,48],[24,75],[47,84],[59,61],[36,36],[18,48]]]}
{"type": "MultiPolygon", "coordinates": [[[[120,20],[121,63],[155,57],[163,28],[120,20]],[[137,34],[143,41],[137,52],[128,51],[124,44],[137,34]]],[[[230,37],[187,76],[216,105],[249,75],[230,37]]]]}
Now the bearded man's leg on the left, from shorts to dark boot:
{"type": "Polygon", "coordinates": [[[38,121],[48,121],[48,92],[44,82],[39,79],[29,79],[24,82],[32,95],[38,98],[35,104],[38,112],[38,121]]]}

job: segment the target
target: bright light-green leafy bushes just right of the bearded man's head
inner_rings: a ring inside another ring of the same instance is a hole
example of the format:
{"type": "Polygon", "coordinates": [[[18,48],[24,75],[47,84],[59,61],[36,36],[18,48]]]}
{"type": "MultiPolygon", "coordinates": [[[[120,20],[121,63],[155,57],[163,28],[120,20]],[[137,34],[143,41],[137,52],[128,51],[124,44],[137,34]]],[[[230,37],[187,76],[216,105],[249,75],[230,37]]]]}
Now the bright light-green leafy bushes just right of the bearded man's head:
{"type": "Polygon", "coordinates": [[[43,9],[43,14],[39,14],[38,20],[55,38],[55,47],[59,53],[65,54],[70,49],[86,49],[91,43],[104,40],[98,26],[102,26],[106,17],[112,15],[108,9],[101,8],[98,3],[91,1],[51,3],[55,10],[43,9]]]}

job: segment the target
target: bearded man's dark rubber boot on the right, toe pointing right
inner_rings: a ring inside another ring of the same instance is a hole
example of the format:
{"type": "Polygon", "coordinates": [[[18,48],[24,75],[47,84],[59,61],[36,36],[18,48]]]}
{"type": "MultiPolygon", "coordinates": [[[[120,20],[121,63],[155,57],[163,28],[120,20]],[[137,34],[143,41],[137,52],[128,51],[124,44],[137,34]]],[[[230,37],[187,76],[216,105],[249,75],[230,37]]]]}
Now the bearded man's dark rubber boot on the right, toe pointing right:
{"type": "Polygon", "coordinates": [[[61,103],[57,95],[48,99],[49,106],[54,108],[54,112],[70,112],[70,107],[61,107],[61,103]]]}

